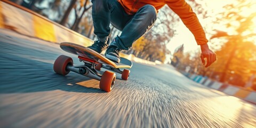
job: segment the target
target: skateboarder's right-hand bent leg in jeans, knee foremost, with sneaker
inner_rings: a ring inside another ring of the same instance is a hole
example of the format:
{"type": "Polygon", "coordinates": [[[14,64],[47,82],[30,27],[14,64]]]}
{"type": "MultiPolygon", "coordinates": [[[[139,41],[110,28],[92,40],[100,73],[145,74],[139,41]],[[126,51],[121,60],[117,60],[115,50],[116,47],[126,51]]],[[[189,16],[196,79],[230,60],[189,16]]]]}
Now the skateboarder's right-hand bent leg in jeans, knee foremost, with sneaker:
{"type": "Polygon", "coordinates": [[[119,62],[119,51],[129,50],[133,42],[144,35],[155,23],[157,12],[154,6],[145,5],[126,23],[121,36],[117,36],[106,51],[106,57],[119,62]]]}

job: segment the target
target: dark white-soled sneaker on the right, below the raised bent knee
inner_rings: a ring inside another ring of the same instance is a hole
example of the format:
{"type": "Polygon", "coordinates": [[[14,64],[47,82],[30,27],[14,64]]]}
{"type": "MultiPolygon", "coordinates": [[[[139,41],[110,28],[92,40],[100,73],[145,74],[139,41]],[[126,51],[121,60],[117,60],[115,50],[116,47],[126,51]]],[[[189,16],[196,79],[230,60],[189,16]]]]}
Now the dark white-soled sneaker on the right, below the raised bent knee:
{"type": "Polygon", "coordinates": [[[119,57],[120,51],[121,50],[116,45],[109,45],[105,57],[119,63],[121,60],[119,57]]]}

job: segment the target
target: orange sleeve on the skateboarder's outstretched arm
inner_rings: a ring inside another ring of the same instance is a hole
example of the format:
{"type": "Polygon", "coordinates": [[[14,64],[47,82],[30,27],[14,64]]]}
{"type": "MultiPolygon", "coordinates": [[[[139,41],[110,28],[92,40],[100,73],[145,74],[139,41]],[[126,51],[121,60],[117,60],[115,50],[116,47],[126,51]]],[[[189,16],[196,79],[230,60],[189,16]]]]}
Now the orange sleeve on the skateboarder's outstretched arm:
{"type": "Polygon", "coordinates": [[[198,45],[206,44],[208,42],[205,37],[204,29],[196,17],[196,14],[185,0],[166,0],[166,4],[173,12],[179,15],[182,22],[194,35],[198,45]]]}

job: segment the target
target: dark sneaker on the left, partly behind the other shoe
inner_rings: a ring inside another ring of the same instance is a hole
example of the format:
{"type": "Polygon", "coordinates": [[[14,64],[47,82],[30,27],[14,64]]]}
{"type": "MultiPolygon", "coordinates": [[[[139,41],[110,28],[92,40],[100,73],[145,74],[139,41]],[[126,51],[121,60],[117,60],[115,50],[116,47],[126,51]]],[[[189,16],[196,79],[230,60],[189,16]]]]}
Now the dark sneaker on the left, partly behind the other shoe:
{"type": "Polygon", "coordinates": [[[109,45],[109,41],[110,39],[108,39],[107,43],[104,42],[100,42],[100,41],[95,41],[92,46],[89,46],[88,48],[101,53],[103,50],[106,50],[108,45],[109,45]]]}

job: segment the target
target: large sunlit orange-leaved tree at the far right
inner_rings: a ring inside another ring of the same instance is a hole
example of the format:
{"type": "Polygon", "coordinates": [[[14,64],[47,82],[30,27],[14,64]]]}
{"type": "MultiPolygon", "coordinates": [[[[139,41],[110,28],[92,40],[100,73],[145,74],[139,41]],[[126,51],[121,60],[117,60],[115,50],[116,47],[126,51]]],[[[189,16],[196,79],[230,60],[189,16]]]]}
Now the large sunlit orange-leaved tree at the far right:
{"type": "Polygon", "coordinates": [[[225,6],[226,12],[220,13],[222,17],[218,18],[217,23],[225,25],[225,29],[229,31],[219,31],[211,38],[223,38],[221,49],[217,51],[218,61],[215,66],[219,67],[221,73],[220,81],[229,81],[229,78],[238,77],[245,82],[250,77],[250,68],[253,67],[252,61],[255,60],[256,34],[253,28],[255,24],[256,12],[247,12],[244,15],[245,9],[250,9],[256,3],[237,1],[237,4],[229,4],[225,6]],[[254,58],[254,59],[253,59],[254,58]],[[221,63],[221,64],[220,64],[221,63]],[[220,70],[221,69],[221,70],[220,70]]]}

